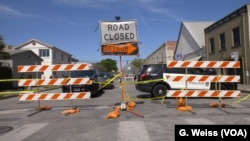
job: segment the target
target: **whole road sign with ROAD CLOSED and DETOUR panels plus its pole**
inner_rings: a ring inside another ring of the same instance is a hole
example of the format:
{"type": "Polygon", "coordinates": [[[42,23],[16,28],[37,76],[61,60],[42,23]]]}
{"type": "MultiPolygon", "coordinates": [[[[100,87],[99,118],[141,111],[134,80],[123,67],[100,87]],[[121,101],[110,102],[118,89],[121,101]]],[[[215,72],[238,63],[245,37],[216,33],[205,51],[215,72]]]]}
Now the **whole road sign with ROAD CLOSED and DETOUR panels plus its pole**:
{"type": "MultiPolygon", "coordinates": [[[[102,55],[119,55],[120,71],[122,72],[122,55],[138,55],[138,37],[136,21],[120,21],[120,17],[115,17],[116,21],[100,21],[101,52],[102,55]]],[[[124,83],[121,78],[121,110],[126,110],[124,101],[124,83]]]]}

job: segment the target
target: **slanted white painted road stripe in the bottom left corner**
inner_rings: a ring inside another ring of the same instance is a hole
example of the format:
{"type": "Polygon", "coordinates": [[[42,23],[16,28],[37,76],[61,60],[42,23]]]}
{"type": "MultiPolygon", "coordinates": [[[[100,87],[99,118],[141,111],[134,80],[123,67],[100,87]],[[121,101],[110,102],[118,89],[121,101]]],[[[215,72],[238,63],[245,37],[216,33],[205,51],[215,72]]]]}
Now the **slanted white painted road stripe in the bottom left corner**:
{"type": "Polygon", "coordinates": [[[48,123],[25,124],[9,133],[2,135],[0,141],[22,141],[40,129],[44,128],[46,125],[48,125],[48,123]]]}

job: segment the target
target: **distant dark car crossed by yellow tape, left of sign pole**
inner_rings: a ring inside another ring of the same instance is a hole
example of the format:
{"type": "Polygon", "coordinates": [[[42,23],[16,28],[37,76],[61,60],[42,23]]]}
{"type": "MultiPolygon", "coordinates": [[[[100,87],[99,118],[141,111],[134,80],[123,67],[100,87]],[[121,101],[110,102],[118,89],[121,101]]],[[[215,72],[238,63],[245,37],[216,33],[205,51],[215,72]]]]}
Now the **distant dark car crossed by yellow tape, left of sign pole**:
{"type": "Polygon", "coordinates": [[[113,89],[115,88],[114,81],[110,81],[114,76],[111,72],[100,72],[100,77],[103,78],[104,83],[102,84],[103,89],[113,89]]]}

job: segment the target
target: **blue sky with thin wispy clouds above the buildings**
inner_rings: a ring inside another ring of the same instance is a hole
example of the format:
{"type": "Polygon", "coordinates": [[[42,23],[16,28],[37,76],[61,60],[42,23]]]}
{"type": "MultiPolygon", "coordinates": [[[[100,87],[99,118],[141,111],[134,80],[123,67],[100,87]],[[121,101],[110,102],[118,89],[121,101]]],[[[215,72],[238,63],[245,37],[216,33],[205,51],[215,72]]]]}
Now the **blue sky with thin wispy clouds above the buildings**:
{"type": "Polygon", "coordinates": [[[250,0],[0,0],[0,35],[14,47],[31,39],[55,46],[80,61],[100,62],[99,23],[136,21],[139,56],[145,59],[164,42],[177,41],[182,22],[217,21],[250,0]]]}

